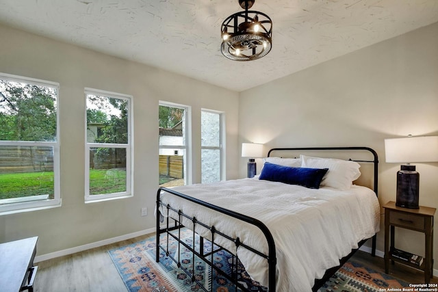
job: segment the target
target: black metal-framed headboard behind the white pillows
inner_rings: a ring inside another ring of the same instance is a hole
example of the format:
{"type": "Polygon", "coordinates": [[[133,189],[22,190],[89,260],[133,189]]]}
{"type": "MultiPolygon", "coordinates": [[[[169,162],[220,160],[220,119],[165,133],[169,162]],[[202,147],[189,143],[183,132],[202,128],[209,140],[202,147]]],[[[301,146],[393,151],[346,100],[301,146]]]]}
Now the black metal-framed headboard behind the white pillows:
{"type": "Polygon", "coordinates": [[[378,196],[378,156],[377,152],[372,148],[360,146],[272,148],[268,152],[268,157],[272,156],[272,152],[275,152],[276,157],[299,157],[300,154],[302,154],[356,161],[357,163],[361,164],[361,170],[363,170],[362,167],[365,168],[365,164],[370,165],[370,163],[372,163],[372,180],[366,181],[367,178],[362,178],[361,175],[361,178],[359,178],[358,181],[362,181],[362,185],[367,185],[368,187],[372,188],[374,193],[376,193],[376,196],[378,196]]]}

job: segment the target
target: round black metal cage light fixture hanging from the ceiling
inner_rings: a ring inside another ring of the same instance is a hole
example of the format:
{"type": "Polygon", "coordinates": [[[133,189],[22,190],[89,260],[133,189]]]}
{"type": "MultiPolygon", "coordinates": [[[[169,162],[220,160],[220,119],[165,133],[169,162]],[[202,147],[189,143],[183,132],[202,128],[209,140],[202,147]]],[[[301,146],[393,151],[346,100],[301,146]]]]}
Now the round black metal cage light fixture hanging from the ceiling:
{"type": "Polygon", "coordinates": [[[222,23],[220,51],[234,61],[251,61],[267,55],[272,48],[271,18],[258,11],[248,11],[255,0],[238,0],[245,11],[237,12],[222,23]]]}

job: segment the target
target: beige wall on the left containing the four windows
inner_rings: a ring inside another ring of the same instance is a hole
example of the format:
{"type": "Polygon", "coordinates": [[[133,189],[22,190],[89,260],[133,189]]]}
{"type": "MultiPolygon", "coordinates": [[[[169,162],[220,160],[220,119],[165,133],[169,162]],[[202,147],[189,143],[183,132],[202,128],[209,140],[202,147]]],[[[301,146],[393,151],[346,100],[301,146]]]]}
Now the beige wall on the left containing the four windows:
{"type": "Polygon", "coordinates": [[[0,36],[0,72],[60,83],[62,196],[59,208],[0,216],[0,242],[38,235],[41,255],[154,228],[159,101],[192,107],[195,183],[201,181],[201,108],[224,111],[227,178],[237,177],[237,92],[9,27],[0,26],[0,36]],[[84,88],[133,96],[133,198],[84,203],[84,88]],[[141,207],[148,208],[146,217],[141,207]]]}

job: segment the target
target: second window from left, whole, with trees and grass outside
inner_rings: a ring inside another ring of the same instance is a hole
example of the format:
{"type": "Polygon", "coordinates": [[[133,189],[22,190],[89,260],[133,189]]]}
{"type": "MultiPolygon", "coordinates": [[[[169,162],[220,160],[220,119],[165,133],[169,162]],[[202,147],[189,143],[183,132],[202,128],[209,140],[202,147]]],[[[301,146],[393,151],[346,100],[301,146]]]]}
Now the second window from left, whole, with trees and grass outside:
{"type": "Polygon", "coordinates": [[[132,196],[131,96],[86,88],[86,202],[132,196]]]}

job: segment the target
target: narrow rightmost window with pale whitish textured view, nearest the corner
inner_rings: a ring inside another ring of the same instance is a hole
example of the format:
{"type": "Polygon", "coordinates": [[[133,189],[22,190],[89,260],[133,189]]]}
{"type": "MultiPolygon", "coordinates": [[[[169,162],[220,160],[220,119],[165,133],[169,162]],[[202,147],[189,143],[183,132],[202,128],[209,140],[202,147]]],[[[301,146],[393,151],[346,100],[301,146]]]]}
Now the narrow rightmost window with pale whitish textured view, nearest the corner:
{"type": "Polygon", "coordinates": [[[222,114],[201,111],[201,181],[222,180],[222,114]]]}

